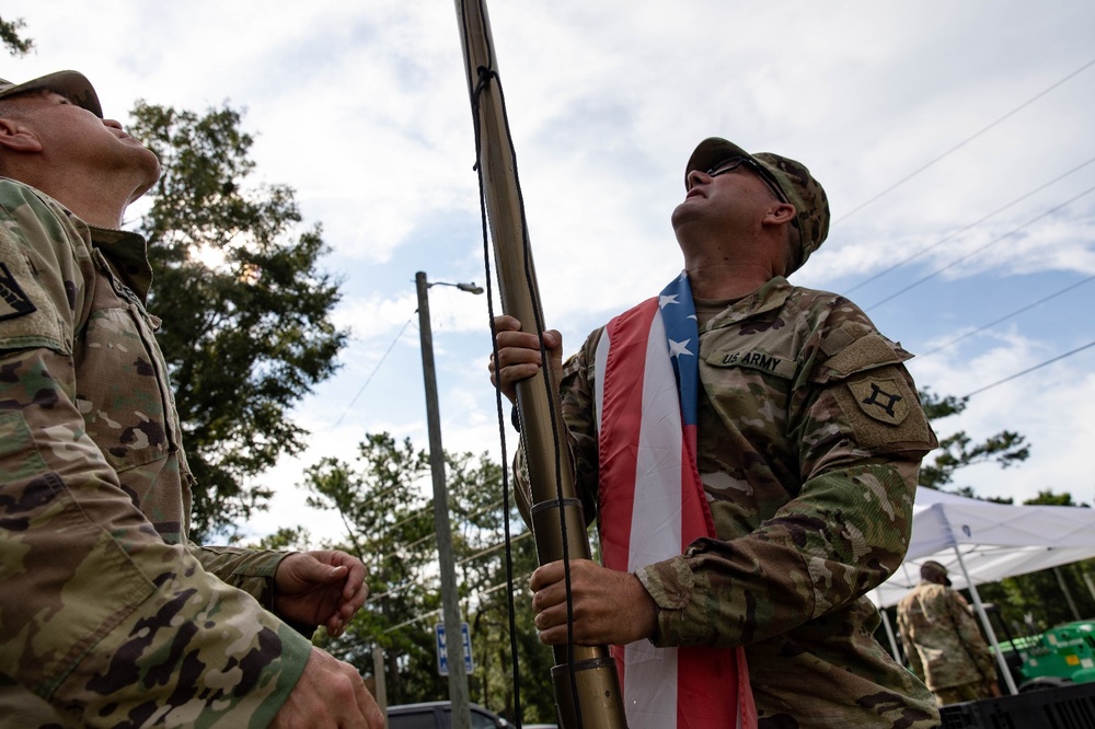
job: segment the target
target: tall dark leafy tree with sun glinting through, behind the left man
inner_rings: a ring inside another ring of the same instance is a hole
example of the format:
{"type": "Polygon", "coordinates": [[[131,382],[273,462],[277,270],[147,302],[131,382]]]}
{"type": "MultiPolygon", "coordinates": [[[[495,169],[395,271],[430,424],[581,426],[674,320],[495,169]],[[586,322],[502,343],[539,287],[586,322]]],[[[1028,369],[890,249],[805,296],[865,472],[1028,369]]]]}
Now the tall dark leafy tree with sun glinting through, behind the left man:
{"type": "Polygon", "coordinates": [[[132,117],[130,134],[162,167],[138,228],[200,539],[262,508],[270,491],[245,482],[303,449],[307,431],[288,412],[336,369],[346,339],[330,319],[338,284],[318,268],[327,248],[319,225],[300,231],[292,188],[251,183],[253,138],[239,112],[138,102],[132,117]]]}

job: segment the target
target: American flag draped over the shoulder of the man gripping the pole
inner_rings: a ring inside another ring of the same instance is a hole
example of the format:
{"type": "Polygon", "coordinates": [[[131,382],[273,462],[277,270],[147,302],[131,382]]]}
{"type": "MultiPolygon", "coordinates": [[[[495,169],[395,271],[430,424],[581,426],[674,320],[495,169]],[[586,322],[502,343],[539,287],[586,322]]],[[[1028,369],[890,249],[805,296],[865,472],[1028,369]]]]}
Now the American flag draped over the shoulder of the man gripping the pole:
{"type": "MultiPolygon", "coordinates": [[[[633,572],[715,535],[695,467],[699,351],[684,274],[604,328],[595,371],[606,567],[633,572]]],[[[740,648],[639,640],[612,655],[631,729],[756,726],[740,648]]]]}

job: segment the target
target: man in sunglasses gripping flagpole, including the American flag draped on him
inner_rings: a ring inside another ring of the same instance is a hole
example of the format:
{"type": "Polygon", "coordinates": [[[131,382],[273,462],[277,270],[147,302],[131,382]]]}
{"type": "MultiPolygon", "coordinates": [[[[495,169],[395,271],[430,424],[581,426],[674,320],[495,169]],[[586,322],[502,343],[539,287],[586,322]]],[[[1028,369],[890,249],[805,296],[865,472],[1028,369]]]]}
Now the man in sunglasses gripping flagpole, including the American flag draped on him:
{"type": "MultiPolygon", "coordinates": [[[[904,556],[936,439],[911,355],[849,300],[787,281],[828,234],[825,190],[711,138],[671,221],[684,270],[660,296],[565,366],[543,336],[603,556],[569,566],[574,640],[613,646],[632,729],[937,726],[863,597],[904,556]]],[[[495,324],[492,380],[514,401],[540,340],[495,324]]],[[[562,563],[531,589],[540,639],[565,644],[562,563]]]]}

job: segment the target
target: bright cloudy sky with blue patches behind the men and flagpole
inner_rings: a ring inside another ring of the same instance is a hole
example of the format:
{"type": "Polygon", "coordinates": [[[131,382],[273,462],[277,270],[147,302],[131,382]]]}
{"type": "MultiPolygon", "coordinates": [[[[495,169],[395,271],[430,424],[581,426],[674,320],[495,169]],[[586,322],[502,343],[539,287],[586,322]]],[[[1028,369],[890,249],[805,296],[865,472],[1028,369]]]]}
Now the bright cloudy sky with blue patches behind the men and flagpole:
{"type": "MultiPolygon", "coordinates": [[[[864,308],[919,354],[919,386],[971,394],[941,438],[1027,438],[1025,463],[971,466],[955,486],[1095,502],[1095,3],[487,8],[544,316],[567,354],[679,273],[684,163],[725,137],[800,160],[825,186],[829,239],[792,282],[864,308]]],[[[137,100],[243,109],[256,178],[293,187],[306,224],[322,224],[349,344],[293,412],[307,451],[263,475],[276,497],[244,529],[339,536],[304,504],[303,470],[351,461],[366,433],[428,447],[415,273],[486,282],[456,4],[12,0],[2,13],[36,45],[4,58],[3,78],[80,70],[124,124],[137,100]]],[[[498,459],[486,299],[429,290],[443,445],[498,459]]]]}

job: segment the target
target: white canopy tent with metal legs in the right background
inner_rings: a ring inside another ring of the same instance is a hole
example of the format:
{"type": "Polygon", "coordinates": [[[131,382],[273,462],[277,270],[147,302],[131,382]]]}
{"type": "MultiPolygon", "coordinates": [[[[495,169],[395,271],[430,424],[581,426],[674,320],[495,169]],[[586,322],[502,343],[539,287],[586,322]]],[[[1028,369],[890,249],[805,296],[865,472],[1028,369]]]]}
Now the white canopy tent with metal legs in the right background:
{"type": "MultiPolygon", "coordinates": [[[[920,581],[921,565],[929,559],[944,565],[956,590],[970,589],[986,634],[998,648],[1003,678],[1015,693],[976,586],[1088,557],[1095,557],[1095,509],[1011,506],[920,488],[904,563],[868,597],[879,608],[896,605],[920,581]]],[[[896,655],[889,621],[886,630],[896,655]]]]}

